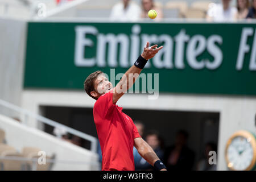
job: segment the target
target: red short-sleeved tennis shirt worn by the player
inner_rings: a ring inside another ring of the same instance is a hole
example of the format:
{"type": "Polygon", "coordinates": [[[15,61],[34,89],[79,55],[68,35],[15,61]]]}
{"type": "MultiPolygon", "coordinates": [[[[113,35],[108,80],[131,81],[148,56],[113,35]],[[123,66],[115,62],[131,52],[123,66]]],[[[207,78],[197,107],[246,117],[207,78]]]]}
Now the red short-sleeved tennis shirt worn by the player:
{"type": "Polygon", "coordinates": [[[134,138],[141,137],[133,120],[113,104],[113,92],[102,94],[93,117],[102,151],[102,171],[134,171],[134,138]]]}

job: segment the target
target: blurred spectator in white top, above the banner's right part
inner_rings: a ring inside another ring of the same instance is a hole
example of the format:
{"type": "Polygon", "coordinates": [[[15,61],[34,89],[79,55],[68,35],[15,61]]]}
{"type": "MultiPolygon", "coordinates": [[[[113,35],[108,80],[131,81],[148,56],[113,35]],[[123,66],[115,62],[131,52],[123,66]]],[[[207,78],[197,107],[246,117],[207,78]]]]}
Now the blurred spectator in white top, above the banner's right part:
{"type": "Polygon", "coordinates": [[[230,6],[231,0],[222,0],[221,4],[212,4],[207,12],[207,20],[214,22],[225,22],[236,20],[237,9],[230,6]]]}

